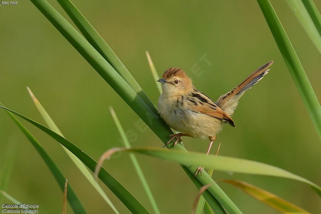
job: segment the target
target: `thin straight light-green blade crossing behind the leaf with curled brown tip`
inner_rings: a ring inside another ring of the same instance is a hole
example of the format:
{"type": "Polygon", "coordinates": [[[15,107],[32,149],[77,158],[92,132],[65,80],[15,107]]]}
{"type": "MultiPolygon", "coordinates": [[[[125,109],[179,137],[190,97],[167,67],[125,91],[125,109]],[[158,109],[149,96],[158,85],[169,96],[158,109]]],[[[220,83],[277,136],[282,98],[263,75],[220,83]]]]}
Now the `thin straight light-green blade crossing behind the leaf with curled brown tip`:
{"type": "MultiPolygon", "coordinates": [[[[130,145],[130,143],[129,143],[129,141],[128,141],[128,138],[127,138],[127,136],[126,136],[126,133],[125,133],[122,125],[120,124],[120,122],[119,122],[119,120],[118,120],[118,117],[117,117],[114,109],[113,109],[112,107],[109,107],[109,110],[110,110],[111,116],[112,116],[113,119],[114,119],[114,122],[115,122],[115,124],[116,124],[117,129],[118,129],[118,132],[120,133],[120,136],[121,136],[121,138],[122,138],[122,140],[123,140],[124,146],[125,146],[126,148],[131,148],[131,145],[130,145]]],[[[158,207],[157,207],[157,203],[156,203],[156,201],[155,201],[155,199],[154,199],[154,197],[153,197],[152,191],[151,191],[151,189],[149,188],[149,185],[148,185],[148,183],[147,183],[147,181],[146,181],[146,178],[145,178],[145,176],[144,176],[144,174],[143,174],[142,168],[140,167],[136,156],[135,156],[134,154],[130,154],[129,157],[130,157],[130,159],[131,159],[131,161],[132,161],[132,163],[133,163],[133,165],[134,165],[134,168],[135,168],[135,170],[136,170],[136,173],[137,173],[140,181],[141,181],[142,184],[143,184],[143,188],[144,188],[144,190],[145,190],[145,192],[146,192],[149,200],[151,201],[151,204],[152,204],[152,207],[153,207],[153,209],[154,209],[154,212],[155,212],[156,214],[160,214],[160,210],[159,210],[158,207]]]]}

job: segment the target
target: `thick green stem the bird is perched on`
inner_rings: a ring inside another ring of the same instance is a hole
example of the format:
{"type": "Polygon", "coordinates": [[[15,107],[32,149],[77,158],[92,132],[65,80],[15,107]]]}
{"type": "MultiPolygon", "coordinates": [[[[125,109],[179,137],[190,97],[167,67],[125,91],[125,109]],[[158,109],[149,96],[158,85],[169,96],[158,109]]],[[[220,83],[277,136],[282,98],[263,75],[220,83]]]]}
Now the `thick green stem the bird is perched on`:
{"type": "MultiPolygon", "coordinates": [[[[123,100],[136,112],[136,114],[152,129],[152,131],[165,143],[168,136],[172,134],[154,107],[149,107],[142,98],[129,86],[129,84],[108,64],[108,62],[94,49],[89,42],[73,28],[50,4],[45,0],[30,0],[39,11],[56,27],[57,30],[72,44],[75,49],[91,64],[91,66],[108,82],[108,84],[123,98],[123,100]]],[[[176,146],[178,150],[187,151],[184,146],[176,146]]],[[[186,167],[182,166],[186,171],[186,167]]],[[[188,176],[191,178],[198,166],[190,167],[188,176]]],[[[203,185],[213,183],[213,179],[203,173],[203,177],[197,177],[203,185]]],[[[194,181],[193,181],[194,182],[194,181]]],[[[194,182],[195,184],[195,182],[194,182]]],[[[208,191],[217,199],[230,213],[241,213],[239,208],[230,200],[224,191],[217,185],[212,185],[208,191]]],[[[207,199],[206,199],[207,200],[207,199]]],[[[213,200],[215,201],[215,200],[213,200]]],[[[213,205],[213,204],[211,204],[213,205]]],[[[216,207],[221,205],[217,204],[216,207]]],[[[215,207],[212,207],[215,212],[215,207]]]]}

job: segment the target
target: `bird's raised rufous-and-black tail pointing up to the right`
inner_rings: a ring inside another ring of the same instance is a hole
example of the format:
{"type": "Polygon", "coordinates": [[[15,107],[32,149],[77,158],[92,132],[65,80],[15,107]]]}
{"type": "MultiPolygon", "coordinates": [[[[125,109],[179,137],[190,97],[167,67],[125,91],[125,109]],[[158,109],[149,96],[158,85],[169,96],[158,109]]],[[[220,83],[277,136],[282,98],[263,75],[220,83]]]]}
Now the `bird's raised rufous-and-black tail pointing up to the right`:
{"type": "Polygon", "coordinates": [[[254,73],[249,75],[243,82],[241,82],[237,87],[232,89],[230,92],[221,95],[220,98],[216,101],[216,104],[223,109],[228,115],[234,113],[235,108],[239,103],[239,98],[242,97],[244,92],[258,83],[265,74],[267,74],[270,69],[268,69],[273,64],[273,61],[270,61],[261,67],[259,67],[254,73]]]}

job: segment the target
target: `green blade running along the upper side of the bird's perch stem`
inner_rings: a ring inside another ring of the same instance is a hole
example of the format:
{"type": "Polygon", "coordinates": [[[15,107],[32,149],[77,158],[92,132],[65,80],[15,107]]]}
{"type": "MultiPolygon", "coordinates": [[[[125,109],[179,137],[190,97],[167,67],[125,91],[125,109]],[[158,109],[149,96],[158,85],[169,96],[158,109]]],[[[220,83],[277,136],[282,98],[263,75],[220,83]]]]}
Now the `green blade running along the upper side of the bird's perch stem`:
{"type": "MultiPolygon", "coordinates": [[[[143,101],[153,109],[153,104],[142,90],[140,85],[134,79],[125,65],[119,60],[114,51],[108,46],[105,40],[94,29],[90,22],[82,15],[76,6],[70,0],[57,0],[65,10],[77,28],[82,32],[89,43],[100,53],[104,59],[124,78],[124,80],[134,89],[134,91],[143,99],[143,101]]],[[[156,113],[156,112],[155,112],[156,113]]]]}

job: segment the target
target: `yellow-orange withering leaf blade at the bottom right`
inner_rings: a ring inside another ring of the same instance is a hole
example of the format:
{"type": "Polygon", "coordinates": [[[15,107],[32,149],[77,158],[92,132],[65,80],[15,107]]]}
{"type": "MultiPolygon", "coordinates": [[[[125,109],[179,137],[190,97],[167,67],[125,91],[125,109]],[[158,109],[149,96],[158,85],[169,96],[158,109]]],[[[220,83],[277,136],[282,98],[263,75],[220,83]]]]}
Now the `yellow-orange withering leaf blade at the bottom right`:
{"type": "Polygon", "coordinates": [[[273,207],[275,210],[278,210],[282,213],[286,213],[286,214],[309,213],[308,211],[303,210],[302,208],[288,201],[285,201],[284,199],[279,198],[278,196],[272,193],[269,193],[263,189],[260,189],[252,184],[248,184],[243,181],[235,181],[235,180],[223,180],[223,182],[236,186],[237,188],[241,189],[243,192],[249,194],[253,198],[256,198],[257,200],[262,201],[263,203],[267,204],[270,207],[273,207]]]}

